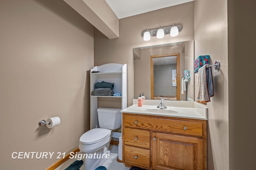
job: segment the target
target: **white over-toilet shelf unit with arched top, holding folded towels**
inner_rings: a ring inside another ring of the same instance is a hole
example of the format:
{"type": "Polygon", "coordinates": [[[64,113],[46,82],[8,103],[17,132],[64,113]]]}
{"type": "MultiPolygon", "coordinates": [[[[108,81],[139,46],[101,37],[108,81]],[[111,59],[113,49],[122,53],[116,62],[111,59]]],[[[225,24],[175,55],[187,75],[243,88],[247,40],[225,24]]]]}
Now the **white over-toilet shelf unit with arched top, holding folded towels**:
{"type": "Polygon", "coordinates": [[[114,83],[114,93],[121,93],[122,96],[90,96],[90,129],[98,127],[98,98],[120,98],[121,109],[127,107],[127,64],[109,63],[91,68],[90,93],[94,90],[94,84],[102,81],[114,83]]]}

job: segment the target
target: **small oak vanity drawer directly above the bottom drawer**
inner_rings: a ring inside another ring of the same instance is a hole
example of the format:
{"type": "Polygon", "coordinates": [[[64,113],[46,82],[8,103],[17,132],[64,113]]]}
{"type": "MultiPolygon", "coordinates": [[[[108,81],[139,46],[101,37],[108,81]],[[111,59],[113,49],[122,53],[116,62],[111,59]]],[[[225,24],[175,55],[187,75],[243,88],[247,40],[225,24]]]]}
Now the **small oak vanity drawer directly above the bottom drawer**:
{"type": "Polygon", "coordinates": [[[124,145],[150,148],[150,131],[141,129],[124,129],[124,145]]]}

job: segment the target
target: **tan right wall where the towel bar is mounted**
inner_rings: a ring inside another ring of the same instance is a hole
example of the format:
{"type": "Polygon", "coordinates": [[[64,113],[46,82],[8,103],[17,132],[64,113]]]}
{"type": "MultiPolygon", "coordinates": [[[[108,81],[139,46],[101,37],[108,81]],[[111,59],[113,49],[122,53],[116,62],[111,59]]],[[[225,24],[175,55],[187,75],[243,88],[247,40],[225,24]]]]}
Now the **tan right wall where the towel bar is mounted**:
{"type": "MultiPolygon", "coordinates": [[[[228,139],[228,25],[226,0],[195,0],[195,57],[210,55],[214,97],[208,107],[208,170],[229,169],[228,139]]],[[[198,74],[195,74],[197,80],[198,74]]],[[[196,84],[196,83],[195,83],[196,84]]],[[[197,88],[195,94],[197,95],[197,88]]]]}

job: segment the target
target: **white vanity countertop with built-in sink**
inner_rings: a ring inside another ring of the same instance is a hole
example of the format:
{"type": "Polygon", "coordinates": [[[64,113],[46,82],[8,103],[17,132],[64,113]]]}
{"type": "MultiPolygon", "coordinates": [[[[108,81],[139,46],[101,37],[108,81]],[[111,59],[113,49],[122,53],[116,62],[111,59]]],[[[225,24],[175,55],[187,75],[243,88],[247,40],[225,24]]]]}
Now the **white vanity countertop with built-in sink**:
{"type": "Polygon", "coordinates": [[[121,112],[208,120],[207,107],[201,106],[200,104],[194,104],[195,102],[179,103],[184,101],[164,101],[164,105],[167,107],[167,110],[171,110],[170,112],[175,113],[161,113],[164,112],[164,109],[157,109],[157,103],[160,103],[158,100],[143,100],[145,104],[150,104],[143,106],[136,105],[135,103],[137,100],[134,100],[135,101],[132,106],[121,110],[121,112]],[[150,111],[151,109],[154,109],[157,113],[155,111],[150,111]]]}

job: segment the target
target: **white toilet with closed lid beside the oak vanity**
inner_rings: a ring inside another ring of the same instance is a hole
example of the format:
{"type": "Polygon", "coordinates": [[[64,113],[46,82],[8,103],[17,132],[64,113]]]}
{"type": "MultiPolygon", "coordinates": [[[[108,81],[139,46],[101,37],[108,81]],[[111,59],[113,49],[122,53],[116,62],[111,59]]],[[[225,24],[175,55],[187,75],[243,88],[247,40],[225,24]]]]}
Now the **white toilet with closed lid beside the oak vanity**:
{"type": "MultiPolygon", "coordinates": [[[[79,140],[80,151],[86,154],[102,155],[110,154],[109,144],[111,131],[122,125],[121,109],[100,107],[98,112],[98,123],[100,128],[95,128],[84,133],[79,140]]],[[[106,162],[106,158],[85,158],[84,170],[95,170],[106,162]]]]}

